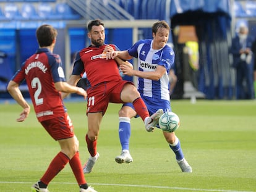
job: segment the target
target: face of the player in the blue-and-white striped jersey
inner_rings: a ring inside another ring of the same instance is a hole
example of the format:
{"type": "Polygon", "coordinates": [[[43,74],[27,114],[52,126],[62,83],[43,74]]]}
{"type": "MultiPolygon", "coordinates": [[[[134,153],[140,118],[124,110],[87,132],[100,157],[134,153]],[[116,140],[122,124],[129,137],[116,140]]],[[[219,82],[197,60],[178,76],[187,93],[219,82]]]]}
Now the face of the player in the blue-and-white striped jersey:
{"type": "Polygon", "coordinates": [[[158,28],[156,33],[153,33],[153,49],[163,48],[169,38],[169,30],[167,28],[158,28]]]}

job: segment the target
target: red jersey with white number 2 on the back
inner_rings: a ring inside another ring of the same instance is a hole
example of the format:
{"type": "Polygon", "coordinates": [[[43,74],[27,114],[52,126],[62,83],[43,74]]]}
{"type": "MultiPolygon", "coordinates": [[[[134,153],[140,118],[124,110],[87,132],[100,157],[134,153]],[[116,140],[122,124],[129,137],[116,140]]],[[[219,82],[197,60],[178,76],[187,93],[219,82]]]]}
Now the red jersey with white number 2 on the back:
{"type": "Polygon", "coordinates": [[[66,112],[61,94],[54,86],[56,82],[66,81],[59,55],[46,48],[38,49],[12,77],[18,84],[24,79],[39,122],[66,112]]]}

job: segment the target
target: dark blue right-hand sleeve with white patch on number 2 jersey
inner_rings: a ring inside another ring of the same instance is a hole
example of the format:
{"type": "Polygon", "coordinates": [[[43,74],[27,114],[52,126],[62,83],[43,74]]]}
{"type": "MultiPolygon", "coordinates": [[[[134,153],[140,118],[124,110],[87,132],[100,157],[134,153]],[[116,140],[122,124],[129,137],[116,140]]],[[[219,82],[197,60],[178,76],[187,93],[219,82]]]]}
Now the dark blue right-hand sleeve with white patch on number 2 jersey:
{"type": "Polygon", "coordinates": [[[59,55],[51,55],[48,57],[49,65],[51,66],[51,74],[53,75],[54,83],[66,81],[65,74],[62,68],[61,57],[59,55]]]}

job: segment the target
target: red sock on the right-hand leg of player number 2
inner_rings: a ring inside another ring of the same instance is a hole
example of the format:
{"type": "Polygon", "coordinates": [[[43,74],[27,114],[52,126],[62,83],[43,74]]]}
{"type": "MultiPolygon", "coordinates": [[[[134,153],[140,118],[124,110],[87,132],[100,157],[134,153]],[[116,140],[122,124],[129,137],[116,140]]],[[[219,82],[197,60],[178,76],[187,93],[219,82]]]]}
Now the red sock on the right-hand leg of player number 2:
{"type": "Polygon", "coordinates": [[[79,185],[85,184],[86,180],[85,180],[85,177],[83,176],[83,167],[79,158],[78,151],[75,153],[75,156],[72,157],[72,159],[70,159],[69,165],[75,175],[75,178],[77,179],[77,183],[79,185]]]}

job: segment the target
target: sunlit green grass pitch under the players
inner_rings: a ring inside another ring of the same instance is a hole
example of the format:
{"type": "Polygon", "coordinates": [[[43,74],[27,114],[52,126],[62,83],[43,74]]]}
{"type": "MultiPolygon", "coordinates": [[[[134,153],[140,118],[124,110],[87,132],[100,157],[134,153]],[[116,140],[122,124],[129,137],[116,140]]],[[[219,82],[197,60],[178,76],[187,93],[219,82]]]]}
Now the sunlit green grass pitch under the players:
{"type": "MultiPolygon", "coordinates": [[[[88,158],[85,102],[67,102],[80,141],[80,158],[88,158]]],[[[132,119],[131,164],[117,164],[120,154],[118,115],[121,104],[109,104],[98,139],[100,159],[85,175],[97,191],[256,191],[256,101],[171,101],[181,126],[181,140],[192,173],[182,173],[160,130],[145,131],[132,119]]],[[[37,122],[33,109],[25,122],[15,119],[22,109],[0,104],[0,191],[30,191],[59,152],[59,145],[37,122]]],[[[69,164],[50,183],[49,191],[79,191],[69,164]]]]}

